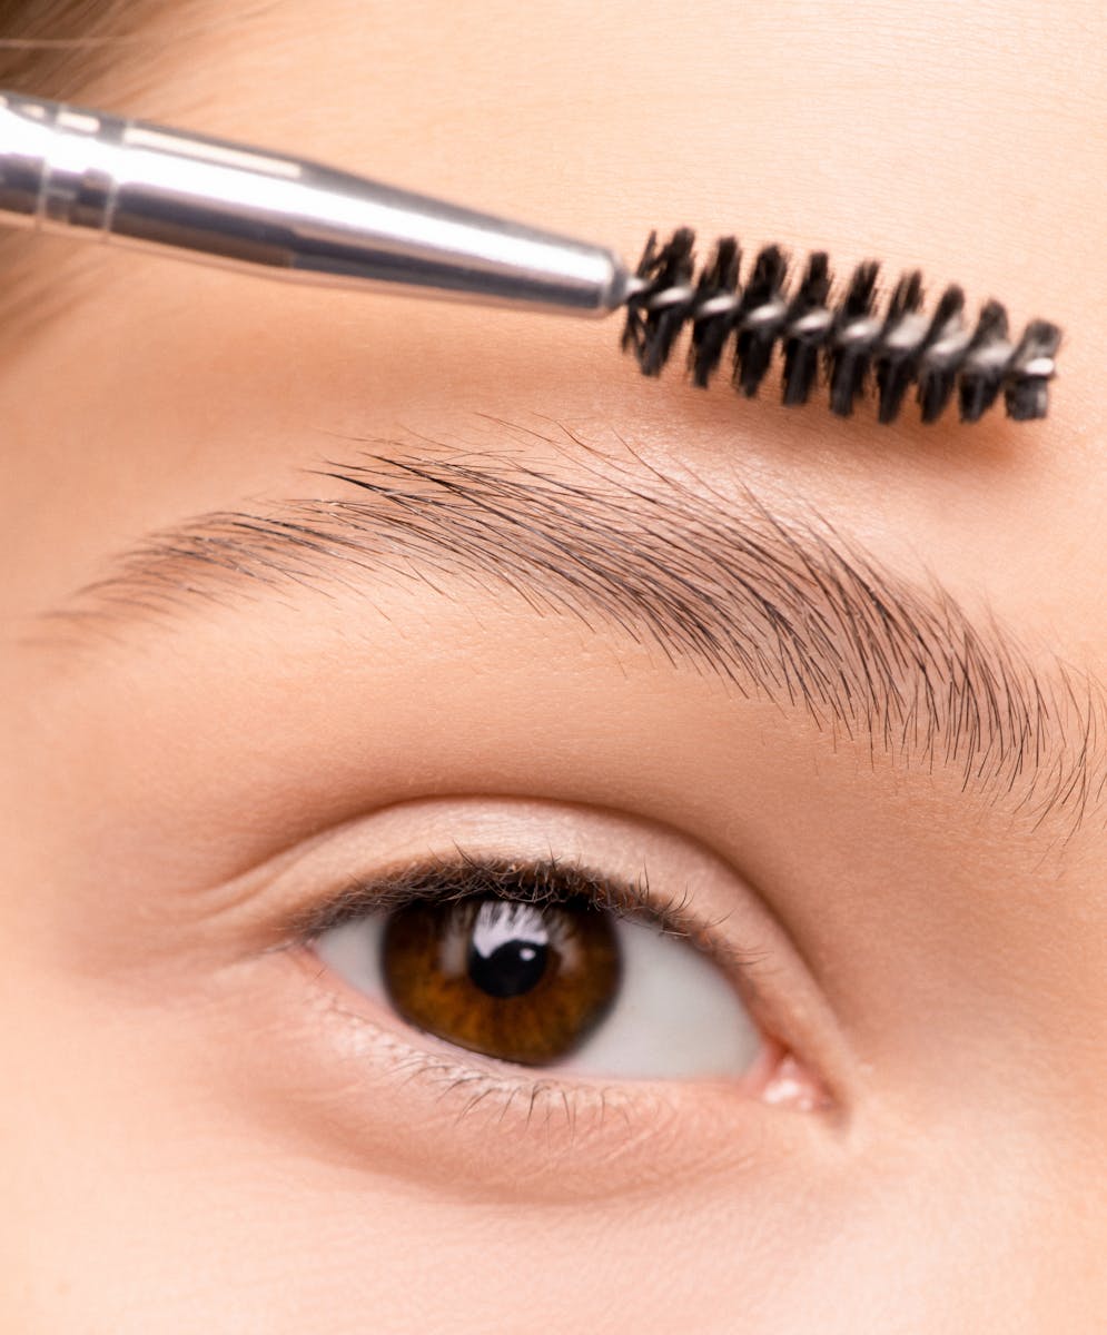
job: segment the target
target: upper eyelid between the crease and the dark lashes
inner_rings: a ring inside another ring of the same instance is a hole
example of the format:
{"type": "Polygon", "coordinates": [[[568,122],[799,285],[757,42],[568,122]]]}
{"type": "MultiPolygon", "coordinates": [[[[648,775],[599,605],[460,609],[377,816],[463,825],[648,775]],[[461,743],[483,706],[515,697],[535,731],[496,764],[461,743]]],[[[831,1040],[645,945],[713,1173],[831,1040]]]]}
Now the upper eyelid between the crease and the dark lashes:
{"type": "MultiPolygon", "coordinates": [[[[447,866],[462,849],[478,860],[530,864],[549,862],[557,849],[560,865],[572,862],[614,885],[641,884],[649,868],[654,909],[682,918],[677,926],[693,939],[686,948],[704,951],[762,1033],[817,1072],[845,1116],[864,1072],[816,971],[772,901],[697,837],[629,812],[560,801],[537,808],[533,800],[513,797],[406,798],[312,833],[224,885],[219,934],[235,939],[235,963],[248,967],[262,956],[290,956],[318,981],[326,965],[311,933],[337,921],[335,908],[381,912],[387,902],[377,892],[389,881],[398,906],[410,898],[399,880],[405,868],[447,866]]],[[[641,904],[632,904],[628,916],[641,916],[641,904]]],[[[648,916],[657,921],[656,912],[648,916]]]]}

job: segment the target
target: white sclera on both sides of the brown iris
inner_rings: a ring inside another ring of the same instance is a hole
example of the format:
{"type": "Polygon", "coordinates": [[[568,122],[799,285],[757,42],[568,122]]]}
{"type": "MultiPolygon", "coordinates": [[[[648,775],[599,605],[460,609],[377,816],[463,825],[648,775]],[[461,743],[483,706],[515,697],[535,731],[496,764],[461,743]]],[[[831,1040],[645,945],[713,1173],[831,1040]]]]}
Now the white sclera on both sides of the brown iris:
{"type": "MultiPolygon", "coordinates": [[[[389,1004],[381,968],[386,914],[324,932],[319,959],[366,996],[389,1004]]],[[[622,976],[614,1004],[592,1036],[546,1069],[628,1080],[738,1076],[761,1036],[722,971],[701,951],[648,922],[614,922],[622,976]]]]}

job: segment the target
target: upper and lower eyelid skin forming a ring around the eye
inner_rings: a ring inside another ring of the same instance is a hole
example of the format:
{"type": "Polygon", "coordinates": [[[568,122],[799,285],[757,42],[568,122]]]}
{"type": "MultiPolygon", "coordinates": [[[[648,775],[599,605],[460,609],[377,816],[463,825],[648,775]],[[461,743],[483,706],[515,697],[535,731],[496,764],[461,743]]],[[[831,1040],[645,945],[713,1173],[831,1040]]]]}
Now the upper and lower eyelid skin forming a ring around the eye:
{"type": "Polygon", "coordinates": [[[250,886],[235,896],[238,925],[224,921],[220,934],[239,937],[247,951],[239,955],[242,968],[258,965],[270,979],[262,992],[275,991],[280,1007],[266,1021],[278,1047],[270,1044],[270,1061],[256,1055],[256,1088],[243,1088],[243,1097],[256,1109],[266,1081],[275,1081],[274,1107],[298,1119],[306,1153],[318,1153],[320,1136],[328,1136],[343,1161],[365,1171],[395,1163],[406,1176],[426,1173],[435,1192],[451,1176],[470,1196],[501,1191],[515,1200],[522,1177],[535,1199],[576,1199],[630,1189],[636,1175],[682,1177],[713,1171],[710,1164],[725,1169],[808,1137],[825,1148],[848,1128],[859,1077],[825,1000],[760,897],[681,832],[546,800],[413,798],[322,832],[303,852],[282,854],[272,872],[255,868],[250,886]],[[535,1077],[530,1068],[462,1053],[407,1028],[304,944],[296,924],[323,902],[320,888],[330,886],[334,898],[382,866],[447,856],[459,842],[473,852],[510,849],[537,858],[556,846],[560,858],[581,857],[630,881],[649,862],[662,901],[673,886],[677,900],[684,896],[697,910],[702,934],[718,947],[716,967],[734,980],[762,1033],[785,1039],[804,1072],[829,1077],[813,1112],[795,1111],[804,1087],[797,1088],[779,1043],[766,1044],[769,1069],[750,1077],[757,1089],[733,1077],[624,1080],[557,1068],[535,1077]],[[288,968],[291,960],[299,968],[288,968]],[[620,1171],[605,1169],[592,1181],[608,1159],[618,1160],[620,1171]],[[558,1163],[561,1175],[550,1167],[558,1163]]]}

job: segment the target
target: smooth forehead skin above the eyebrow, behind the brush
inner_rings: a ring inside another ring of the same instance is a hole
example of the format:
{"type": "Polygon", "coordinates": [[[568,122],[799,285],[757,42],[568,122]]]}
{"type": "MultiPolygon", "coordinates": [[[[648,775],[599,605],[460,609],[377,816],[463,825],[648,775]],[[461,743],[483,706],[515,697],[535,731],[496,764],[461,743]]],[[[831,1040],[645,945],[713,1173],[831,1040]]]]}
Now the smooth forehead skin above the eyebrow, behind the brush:
{"type": "MultiPolygon", "coordinates": [[[[124,55],[120,92],[96,92],[124,112],[534,219],[632,259],[652,227],[686,223],[704,243],[736,231],[748,252],[769,240],[824,247],[839,272],[867,255],[884,259],[888,278],[919,264],[932,290],[961,283],[973,308],[999,296],[1019,328],[1034,315],[1066,328],[1048,427],[1011,430],[993,413],[973,429],[927,431],[908,411],[889,438],[827,413],[738,403],[721,386],[698,395],[677,374],[644,384],[629,360],[609,355],[613,324],[290,292],[49,242],[56,260],[72,256],[95,276],[101,299],[25,358],[9,330],[23,375],[5,421],[9,433],[33,427],[36,447],[12,450],[5,521],[16,534],[32,525],[33,541],[47,537],[59,557],[75,549],[71,567],[51,563],[60,579],[35,562],[21,581],[60,593],[120,529],[167,515],[160,455],[176,467],[180,451],[151,439],[144,406],[158,421],[171,409],[175,437],[188,441],[187,477],[175,477],[172,491],[182,513],[224,499],[227,481],[268,490],[303,431],[441,423],[446,406],[457,419],[614,422],[640,446],[741,459],[750,481],[787,491],[801,483],[828,513],[845,507],[864,537],[940,549],[955,586],[983,585],[988,571],[1000,613],[1011,607],[1020,623],[1063,634],[1074,653],[1091,647],[1079,593],[1098,578],[1090,553],[1104,486],[1103,406],[1092,331],[1107,264],[1104,95],[1098,44],[1086,40],[1096,5],[1068,5],[1063,16],[1027,5],[1018,24],[1010,7],[993,5],[716,5],[680,20],[618,5],[600,15],[574,5],[525,17],[510,5],[482,5],[479,19],[434,5],[406,13],[276,4],[228,24],[200,7],[175,27],[179,45],[167,52],[159,41],[143,56],[140,80],[128,77],[136,57],[124,55]],[[140,92],[128,97],[135,81],[140,92]],[[172,327],[159,322],[151,338],[159,310],[174,312],[172,327]],[[194,392],[198,367],[203,395],[194,392]],[[99,422],[104,400],[120,396],[128,411],[111,423],[112,438],[159,461],[146,483],[128,477],[126,495],[111,457],[85,449],[75,461],[71,433],[51,429],[55,410],[68,422],[80,403],[99,422]],[[44,455],[53,442],[57,455],[44,455]],[[95,522],[57,506],[44,534],[49,521],[25,497],[56,469],[79,482],[95,522]]],[[[29,606],[37,593],[27,590],[29,606]]]]}

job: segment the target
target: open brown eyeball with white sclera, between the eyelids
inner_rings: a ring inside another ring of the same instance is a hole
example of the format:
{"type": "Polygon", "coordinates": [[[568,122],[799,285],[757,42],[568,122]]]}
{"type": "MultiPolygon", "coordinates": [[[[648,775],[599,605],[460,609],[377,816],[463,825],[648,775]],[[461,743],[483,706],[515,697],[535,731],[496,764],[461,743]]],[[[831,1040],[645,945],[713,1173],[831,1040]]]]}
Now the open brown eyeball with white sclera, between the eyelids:
{"type": "Polygon", "coordinates": [[[391,906],[359,910],[369,893],[354,896],[315,953],[459,1048],[632,1079],[737,1076],[761,1055],[722,967],[596,876],[465,862],[374,893],[391,906]]]}

